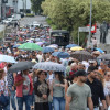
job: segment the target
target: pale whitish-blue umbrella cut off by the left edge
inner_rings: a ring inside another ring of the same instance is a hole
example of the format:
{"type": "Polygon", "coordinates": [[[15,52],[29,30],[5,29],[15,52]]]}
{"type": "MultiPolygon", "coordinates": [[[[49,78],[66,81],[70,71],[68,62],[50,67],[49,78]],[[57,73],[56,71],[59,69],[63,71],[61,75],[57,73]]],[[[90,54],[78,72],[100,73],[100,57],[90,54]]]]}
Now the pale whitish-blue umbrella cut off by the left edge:
{"type": "Polygon", "coordinates": [[[2,55],[2,54],[0,54],[0,62],[16,63],[14,57],[9,56],[9,55],[2,55]]]}

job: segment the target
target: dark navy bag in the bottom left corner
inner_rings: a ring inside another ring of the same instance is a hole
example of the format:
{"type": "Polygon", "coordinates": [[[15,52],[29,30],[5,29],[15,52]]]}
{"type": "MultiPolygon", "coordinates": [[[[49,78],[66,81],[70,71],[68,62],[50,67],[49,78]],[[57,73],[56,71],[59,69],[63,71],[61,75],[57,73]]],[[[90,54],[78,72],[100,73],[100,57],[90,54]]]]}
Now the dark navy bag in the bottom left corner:
{"type": "MultiPolygon", "coordinates": [[[[4,86],[6,86],[6,81],[4,81],[4,86]]],[[[8,105],[9,105],[9,98],[7,96],[4,96],[2,92],[0,96],[0,106],[7,107],[8,105]]]]}

